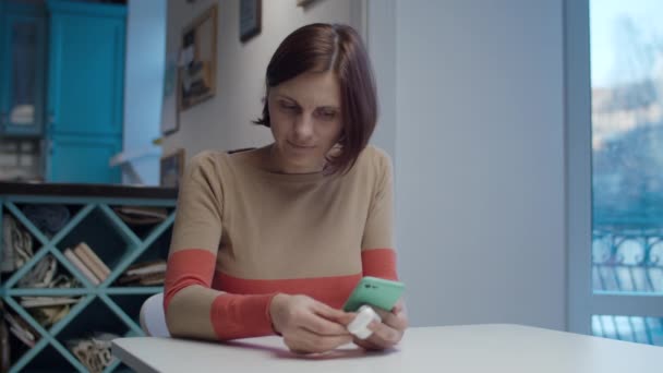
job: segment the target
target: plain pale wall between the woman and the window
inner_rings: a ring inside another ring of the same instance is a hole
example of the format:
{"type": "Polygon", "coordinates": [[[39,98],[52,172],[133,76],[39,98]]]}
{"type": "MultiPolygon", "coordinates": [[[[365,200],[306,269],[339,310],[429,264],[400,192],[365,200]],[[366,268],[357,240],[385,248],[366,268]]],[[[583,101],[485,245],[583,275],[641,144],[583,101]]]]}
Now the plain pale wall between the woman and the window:
{"type": "Polygon", "coordinates": [[[413,325],[565,328],[562,14],[562,0],[396,3],[396,224],[413,325]]]}

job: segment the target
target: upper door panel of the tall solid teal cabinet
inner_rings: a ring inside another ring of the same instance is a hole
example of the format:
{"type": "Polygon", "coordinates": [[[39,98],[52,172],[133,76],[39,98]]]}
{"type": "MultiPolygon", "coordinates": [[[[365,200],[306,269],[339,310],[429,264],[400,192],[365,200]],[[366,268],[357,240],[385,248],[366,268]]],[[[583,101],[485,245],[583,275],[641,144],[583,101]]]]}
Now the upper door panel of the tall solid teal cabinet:
{"type": "Polygon", "coordinates": [[[124,7],[49,1],[48,11],[47,131],[121,134],[124,7]]]}

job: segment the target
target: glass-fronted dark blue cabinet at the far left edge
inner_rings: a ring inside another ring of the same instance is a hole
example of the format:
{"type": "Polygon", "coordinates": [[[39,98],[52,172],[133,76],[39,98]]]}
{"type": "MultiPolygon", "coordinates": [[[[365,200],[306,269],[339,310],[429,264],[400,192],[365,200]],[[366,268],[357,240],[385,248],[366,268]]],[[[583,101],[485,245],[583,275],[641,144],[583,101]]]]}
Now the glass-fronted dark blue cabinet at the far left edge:
{"type": "Polygon", "coordinates": [[[46,14],[29,3],[0,2],[0,133],[39,136],[44,129],[46,14]]]}

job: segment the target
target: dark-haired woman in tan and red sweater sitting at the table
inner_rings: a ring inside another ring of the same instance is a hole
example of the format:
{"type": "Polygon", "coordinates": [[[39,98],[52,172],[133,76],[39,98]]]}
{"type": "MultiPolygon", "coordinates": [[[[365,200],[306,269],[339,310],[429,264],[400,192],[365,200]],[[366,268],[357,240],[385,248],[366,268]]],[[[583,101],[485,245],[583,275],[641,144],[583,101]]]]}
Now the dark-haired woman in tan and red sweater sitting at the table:
{"type": "MultiPolygon", "coordinates": [[[[359,35],[312,24],[267,67],[256,121],[274,143],[204,152],[178,200],[164,306],[173,336],[228,340],[280,334],[296,352],[353,340],[340,311],[362,276],[396,279],[388,157],[366,146],[377,117],[359,35]]],[[[397,344],[402,302],[379,312],[366,349],[397,344]]]]}

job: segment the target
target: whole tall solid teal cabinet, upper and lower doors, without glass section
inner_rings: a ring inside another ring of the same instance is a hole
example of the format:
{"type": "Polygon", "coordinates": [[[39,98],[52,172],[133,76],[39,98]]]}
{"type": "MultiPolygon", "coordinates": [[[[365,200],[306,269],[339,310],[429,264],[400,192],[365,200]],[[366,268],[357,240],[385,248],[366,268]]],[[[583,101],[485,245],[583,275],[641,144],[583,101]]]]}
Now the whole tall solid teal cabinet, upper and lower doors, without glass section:
{"type": "Polygon", "coordinates": [[[48,156],[52,182],[119,183],[126,9],[48,1],[48,156]]]}

